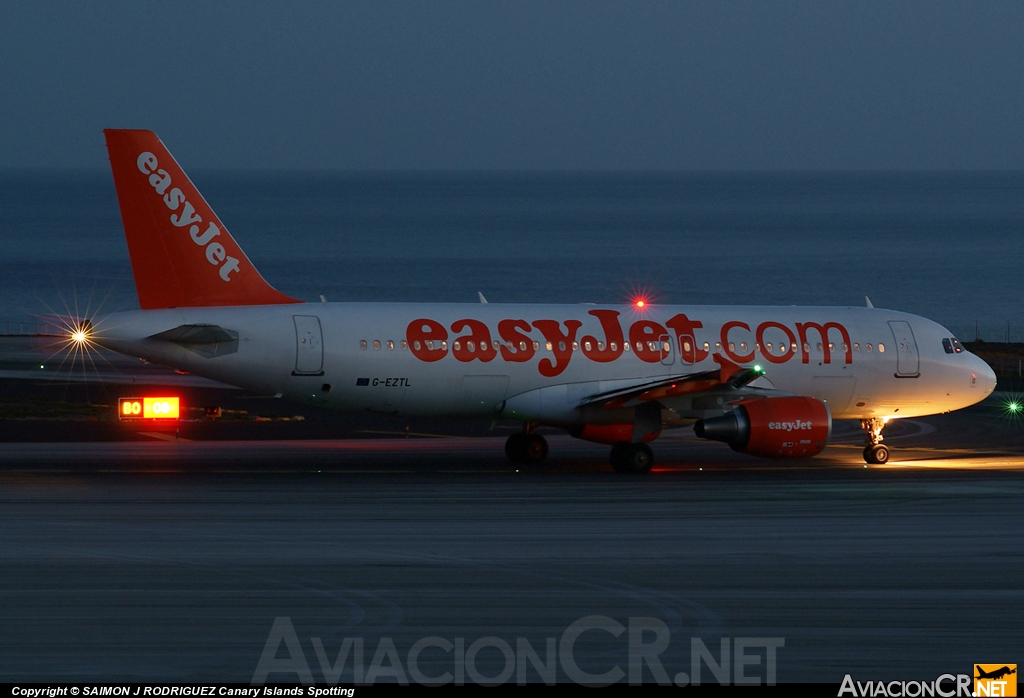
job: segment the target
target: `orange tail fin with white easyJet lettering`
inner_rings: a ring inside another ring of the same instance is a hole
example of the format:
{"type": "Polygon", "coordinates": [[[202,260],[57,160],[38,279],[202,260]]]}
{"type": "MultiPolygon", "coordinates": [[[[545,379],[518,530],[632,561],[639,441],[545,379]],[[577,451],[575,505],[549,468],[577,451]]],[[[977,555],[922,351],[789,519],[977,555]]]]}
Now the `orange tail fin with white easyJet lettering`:
{"type": "Polygon", "coordinates": [[[302,302],[263,280],[157,134],[103,135],[143,309],[302,302]]]}

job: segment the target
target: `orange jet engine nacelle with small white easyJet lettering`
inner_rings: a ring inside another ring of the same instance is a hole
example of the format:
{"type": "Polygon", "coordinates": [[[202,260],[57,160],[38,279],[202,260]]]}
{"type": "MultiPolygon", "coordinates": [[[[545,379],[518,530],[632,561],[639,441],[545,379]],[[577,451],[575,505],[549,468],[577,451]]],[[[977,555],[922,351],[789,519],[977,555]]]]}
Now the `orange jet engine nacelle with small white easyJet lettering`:
{"type": "Polygon", "coordinates": [[[734,405],[728,415],[699,420],[693,431],[740,453],[767,459],[817,455],[831,435],[828,406],[813,397],[767,397],[734,405]]]}

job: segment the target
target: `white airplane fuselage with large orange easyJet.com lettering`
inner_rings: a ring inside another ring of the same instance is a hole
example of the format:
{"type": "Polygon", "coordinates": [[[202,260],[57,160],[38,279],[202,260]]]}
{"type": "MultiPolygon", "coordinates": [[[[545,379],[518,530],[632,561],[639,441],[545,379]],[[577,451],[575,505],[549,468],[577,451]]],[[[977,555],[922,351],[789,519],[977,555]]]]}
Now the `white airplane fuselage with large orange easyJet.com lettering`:
{"type": "MultiPolygon", "coordinates": [[[[142,310],[110,315],[94,333],[109,348],[301,402],[561,425],[601,419],[578,408],[589,396],[711,372],[716,355],[760,365],[752,388],[821,399],[835,419],[945,412],[995,386],[978,357],[947,353],[951,338],[874,308],[419,303],[142,310]],[[238,340],[197,350],[152,339],[181,325],[238,340]]],[[[672,408],[686,422],[727,407],[694,398],[672,408]]]]}

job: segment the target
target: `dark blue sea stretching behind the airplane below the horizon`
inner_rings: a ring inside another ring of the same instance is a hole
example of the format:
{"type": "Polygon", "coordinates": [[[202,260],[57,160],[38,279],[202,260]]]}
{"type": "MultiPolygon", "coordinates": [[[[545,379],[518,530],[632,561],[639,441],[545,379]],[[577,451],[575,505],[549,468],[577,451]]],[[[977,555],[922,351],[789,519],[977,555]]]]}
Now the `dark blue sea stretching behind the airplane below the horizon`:
{"type": "MultiPolygon", "coordinates": [[[[195,172],[318,301],[864,304],[1024,339],[1024,173],[195,172]]],[[[0,172],[0,333],[137,307],[108,171],[0,172]]]]}

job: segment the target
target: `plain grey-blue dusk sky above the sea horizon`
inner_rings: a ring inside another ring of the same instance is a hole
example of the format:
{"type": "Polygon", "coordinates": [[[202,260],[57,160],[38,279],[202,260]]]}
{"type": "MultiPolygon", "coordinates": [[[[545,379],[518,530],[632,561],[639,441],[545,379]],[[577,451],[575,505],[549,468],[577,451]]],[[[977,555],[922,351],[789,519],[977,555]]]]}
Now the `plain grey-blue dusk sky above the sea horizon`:
{"type": "Polygon", "coordinates": [[[5,2],[0,67],[0,168],[1024,168],[1020,2],[5,2]]]}

